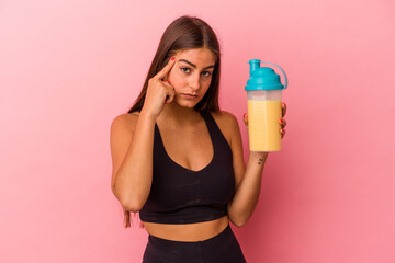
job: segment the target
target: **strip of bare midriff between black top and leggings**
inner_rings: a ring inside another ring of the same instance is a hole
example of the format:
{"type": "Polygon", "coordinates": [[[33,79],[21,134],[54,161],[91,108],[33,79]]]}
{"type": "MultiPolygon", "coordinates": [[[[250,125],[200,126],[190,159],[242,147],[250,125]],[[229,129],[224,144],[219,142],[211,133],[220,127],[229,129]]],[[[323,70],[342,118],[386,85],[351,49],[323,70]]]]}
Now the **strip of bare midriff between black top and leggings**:
{"type": "Polygon", "coordinates": [[[229,224],[227,216],[194,224],[145,222],[144,228],[151,236],[173,241],[203,241],[221,233],[229,224]]]}

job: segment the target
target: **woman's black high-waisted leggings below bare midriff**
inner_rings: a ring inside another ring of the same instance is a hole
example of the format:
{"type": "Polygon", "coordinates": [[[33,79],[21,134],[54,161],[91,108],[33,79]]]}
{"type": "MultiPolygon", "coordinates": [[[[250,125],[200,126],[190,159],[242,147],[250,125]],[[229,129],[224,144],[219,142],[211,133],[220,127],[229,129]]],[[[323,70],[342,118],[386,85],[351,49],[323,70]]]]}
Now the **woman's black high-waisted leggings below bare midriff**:
{"type": "Polygon", "coordinates": [[[217,236],[196,242],[148,236],[143,263],[245,263],[240,245],[228,225],[217,236]]]}

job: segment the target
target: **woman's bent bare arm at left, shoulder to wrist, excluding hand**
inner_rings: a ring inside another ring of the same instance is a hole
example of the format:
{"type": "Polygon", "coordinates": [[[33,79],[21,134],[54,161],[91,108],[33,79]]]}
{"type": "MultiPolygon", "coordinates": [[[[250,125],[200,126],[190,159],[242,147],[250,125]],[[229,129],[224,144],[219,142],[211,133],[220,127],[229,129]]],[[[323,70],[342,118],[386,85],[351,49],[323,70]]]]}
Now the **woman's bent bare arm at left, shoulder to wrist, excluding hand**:
{"type": "Polygon", "coordinates": [[[123,114],[111,125],[112,191],[126,210],[144,206],[153,182],[155,117],[123,114]]]}

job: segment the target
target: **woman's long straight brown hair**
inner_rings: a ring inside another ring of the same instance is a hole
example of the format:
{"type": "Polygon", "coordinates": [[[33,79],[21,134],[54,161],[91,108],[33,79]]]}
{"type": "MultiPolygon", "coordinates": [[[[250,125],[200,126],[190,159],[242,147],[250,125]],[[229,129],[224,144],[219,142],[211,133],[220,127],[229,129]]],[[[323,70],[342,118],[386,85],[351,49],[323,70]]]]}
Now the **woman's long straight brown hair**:
{"type": "MultiPolygon", "coordinates": [[[[148,88],[148,80],[157,75],[169,61],[169,59],[180,50],[191,48],[208,48],[216,58],[215,67],[207,92],[194,108],[202,114],[210,114],[211,111],[218,112],[219,72],[221,72],[221,52],[219,43],[213,28],[203,20],[183,15],[174,20],[165,31],[160,38],[158,49],[149,67],[143,89],[128,113],[142,111],[148,88]]],[[[133,213],[133,221],[138,221],[137,213],[133,213]]],[[[124,209],[125,227],[131,227],[131,211],[124,209]]],[[[139,221],[139,227],[142,222],[139,221]]]]}

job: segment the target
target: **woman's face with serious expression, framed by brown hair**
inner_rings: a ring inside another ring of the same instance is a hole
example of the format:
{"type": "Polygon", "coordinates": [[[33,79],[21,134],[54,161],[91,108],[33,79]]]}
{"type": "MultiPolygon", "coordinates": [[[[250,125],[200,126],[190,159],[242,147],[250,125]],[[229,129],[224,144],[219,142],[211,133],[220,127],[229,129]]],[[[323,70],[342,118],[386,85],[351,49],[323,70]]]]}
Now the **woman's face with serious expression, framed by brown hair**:
{"type": "Polygon", "coordinates": [[[180,106],[194,107],[208,90],[215,55],[207,48],[181,50],[167,80],[174,88],[174,101],[180,106]]]}

